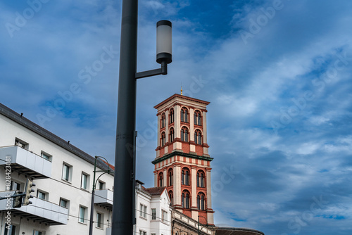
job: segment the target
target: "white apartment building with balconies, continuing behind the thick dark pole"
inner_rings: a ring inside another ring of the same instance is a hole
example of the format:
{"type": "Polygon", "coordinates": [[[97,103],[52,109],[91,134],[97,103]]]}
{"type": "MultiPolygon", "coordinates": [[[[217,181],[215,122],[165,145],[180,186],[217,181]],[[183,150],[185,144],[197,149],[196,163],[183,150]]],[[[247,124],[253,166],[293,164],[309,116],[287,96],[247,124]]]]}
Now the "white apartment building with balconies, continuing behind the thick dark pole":
{"type": "MultiPolygon", "coordinates": [[[[92,234],[110,235],[113,167],[0,103],[0,197],[24,191],[27,179],[35,184],[30,205],[0,200],[0,235],[89,234],[95,160],[96,171],[110,172],[96,172],[92,234]]],[[[165,188],[137,181],[136,192],[135,234],[170,235],[165,188]]]]}

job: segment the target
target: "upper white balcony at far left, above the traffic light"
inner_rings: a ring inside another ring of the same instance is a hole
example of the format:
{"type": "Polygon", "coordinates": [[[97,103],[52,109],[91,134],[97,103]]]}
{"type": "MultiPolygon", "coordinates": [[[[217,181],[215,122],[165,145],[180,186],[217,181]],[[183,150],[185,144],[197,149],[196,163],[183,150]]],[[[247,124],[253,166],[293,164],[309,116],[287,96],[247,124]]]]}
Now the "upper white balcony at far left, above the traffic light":
{"type": "Polygon", "coordinates": [[[6,165],[8,159],[11,160],[11,170],[25,174],[32,179],[51,177],[51,162],[25,148],[20,146],[0,148],[0,165],[6,165]]]}

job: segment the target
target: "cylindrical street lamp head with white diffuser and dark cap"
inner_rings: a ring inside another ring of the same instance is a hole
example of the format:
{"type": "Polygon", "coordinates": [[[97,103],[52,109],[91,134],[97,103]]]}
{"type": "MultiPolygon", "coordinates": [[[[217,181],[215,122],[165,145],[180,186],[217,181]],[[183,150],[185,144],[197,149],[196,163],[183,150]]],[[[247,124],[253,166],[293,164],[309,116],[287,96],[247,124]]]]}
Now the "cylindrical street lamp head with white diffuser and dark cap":
{"type": "Polygon", "coordinates": [[[172,62],[172,24],[169,20],[156,23],[156,62],[172,62]]]}

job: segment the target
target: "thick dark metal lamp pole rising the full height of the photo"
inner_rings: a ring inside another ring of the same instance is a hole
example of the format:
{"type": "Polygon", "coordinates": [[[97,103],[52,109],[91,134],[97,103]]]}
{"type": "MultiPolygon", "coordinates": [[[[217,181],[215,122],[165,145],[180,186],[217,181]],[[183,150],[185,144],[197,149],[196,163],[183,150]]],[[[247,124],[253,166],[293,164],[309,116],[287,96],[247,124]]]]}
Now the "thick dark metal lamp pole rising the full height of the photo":
{"type": "Polygon", "coordinates": [[[133,234],[137,14],[137,0],[122,0],[112,235],[133,234]]]}

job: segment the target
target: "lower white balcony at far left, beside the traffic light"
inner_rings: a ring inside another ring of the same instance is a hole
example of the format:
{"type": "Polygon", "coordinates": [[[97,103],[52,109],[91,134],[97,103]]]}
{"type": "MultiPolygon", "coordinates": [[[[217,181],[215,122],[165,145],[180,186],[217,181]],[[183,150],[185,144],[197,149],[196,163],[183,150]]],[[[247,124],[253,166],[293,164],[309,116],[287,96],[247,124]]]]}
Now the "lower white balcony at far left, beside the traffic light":
{"type": "MultiPolygon", "coordinates": [[[[6,197],[8,193],[13,195],[13,191],[3,191],[0,192],[0,197],[6,197]]],[[[30,220],[35,220],[48,225],[67,224],[67,208],[63,208],[60,205],[39,198],[30,198],[30,201],[32,201],[32,204],[30,205],[13,208],[13,198],[11,198],[11,202],[8,202],[7,205],[10,206],[10,208],[6,208],[7,200],[0,200],[0,210],[3,211],[9,209],[11,211],[11,216],[16,215],[23,218],[30,218],[30,220]]]]}

